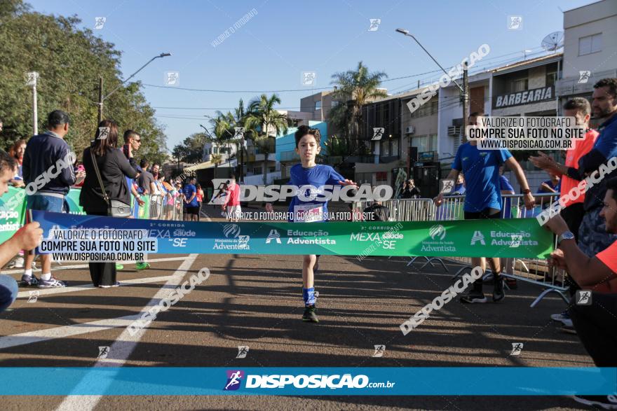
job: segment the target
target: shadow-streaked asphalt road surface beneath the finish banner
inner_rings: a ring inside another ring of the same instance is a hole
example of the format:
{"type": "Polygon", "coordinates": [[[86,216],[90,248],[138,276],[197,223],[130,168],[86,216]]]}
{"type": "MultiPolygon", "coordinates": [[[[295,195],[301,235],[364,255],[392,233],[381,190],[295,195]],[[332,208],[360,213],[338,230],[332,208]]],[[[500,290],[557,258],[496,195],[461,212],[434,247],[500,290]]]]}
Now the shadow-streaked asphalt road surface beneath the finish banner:
{"type": "MultiPolygon", "coordinates": [[[[506,299],[485,305],[449,302],[419,328],[404,336],[400,323],[451,283],[456,263],[442,269],[407,267],[404,258],[323,256],[316,277],[319,324],[301,321],[298,256],[156,255],[151,269],[125,265],[123,286],[88,288],[87,267],[62,266],[56,277],[70,287],[29,289],[0,314],[2,367],[90,367],[110,365],[175,367],[422,367],[422,366],[592,366],[576,335],[562,333],[549,316],[564,302],[548,296],[529,304],[541,291],[520,284],[506,299]],[[158,314],[140,338],[126,326],[151,299],[202,268],[212,273],[166,312],[158,314]],[[29,333],[29,334],[26,334],[29,333]],[[510,356],[523,342],[520,356],[510,356]],[[375,344],[385,344],[374,358],[375,344]],[[236,358],[247,345],[246,358],[236,358]],[[109,346],[106,360],[98,347],[109,346]]],[[[3,270],[16,279],[18,270],[3,270]]],[[[485,285],[486,291],[491,286],[485,285]]],[[[4,368],[2,372],[9,372],[4,368]]],[[[508,381],[464,381],[504,384],[508,381]]],[[[45,384],[33,381],[32,384],[45,384]]],[[[575,409],[566,397],[436,396],[5,396],[2,410],[545,410],[575,409]]]]}

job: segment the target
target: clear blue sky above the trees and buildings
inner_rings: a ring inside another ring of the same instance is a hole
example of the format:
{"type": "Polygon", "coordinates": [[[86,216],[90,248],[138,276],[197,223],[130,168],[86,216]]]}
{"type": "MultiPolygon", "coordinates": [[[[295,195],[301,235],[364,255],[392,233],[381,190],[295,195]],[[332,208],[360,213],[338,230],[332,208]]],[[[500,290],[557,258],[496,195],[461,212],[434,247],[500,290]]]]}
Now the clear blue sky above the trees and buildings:
{"type": "MultiPolygon", "coordinates": [[[[491,52],[477,67],[493,66],[522,58],[522,50],[538,53],[544,36],[563,29],[562,11],[592,2],[30,0],[29,4],[41,13],[77,15],[84,27],[93,28],[95,17],[107,18],[95,33],[122,51],[125,78],[154,55],[170,52],[171,57],[155,60],[135,79],[164,85],[165,71],[179,71],[179,87],[250,91],[191,92],[144,86],[171,149],[199,132],[200,123],[208,125],[203,115],[233,109],[238,99],[248,102],[259,91],[300,89],[278,93],[281,109],[299,110],[300,98],[314,92],[301,84],[302,71],[316,72],[313,87],[329,88],[332,74],[353,69],[360,60],[371,70],[385,71],[389,78],[437,69],[412,39],[394,32],[397,27],[414,34],[444,67],[461,62],[482,43],[491,52]],[[212,47],[212,41],[253,8],[257,15],[212,47]],[[521,15],[522,29],[508,30],[508,15],[521,15]],[[368,31],[372,18],[381,19],[376,32],[368,31]]],[[[438,76],[388,81],[384,87],[400,92],[414,88],[419,79],[438,76]]]]}

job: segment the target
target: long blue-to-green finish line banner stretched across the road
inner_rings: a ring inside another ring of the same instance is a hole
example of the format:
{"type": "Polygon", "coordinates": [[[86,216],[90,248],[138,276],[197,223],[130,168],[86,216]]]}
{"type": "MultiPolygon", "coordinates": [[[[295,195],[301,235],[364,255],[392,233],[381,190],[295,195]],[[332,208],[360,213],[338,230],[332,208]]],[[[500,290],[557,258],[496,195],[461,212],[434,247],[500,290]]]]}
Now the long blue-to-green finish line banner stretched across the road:
{"type": "Polygon", "coordinates": [[[552,233],[541,228],[536,218],[197,223],[35,210],[32,218],[43,228],[43,241],[36,252],[53,253],[57,260],[87,260],[66,258],[84,253],[106,254],[90,260],[130,260],[133,254],[123,255],[129,252],[547,258],[553,244],[552,233]]]}

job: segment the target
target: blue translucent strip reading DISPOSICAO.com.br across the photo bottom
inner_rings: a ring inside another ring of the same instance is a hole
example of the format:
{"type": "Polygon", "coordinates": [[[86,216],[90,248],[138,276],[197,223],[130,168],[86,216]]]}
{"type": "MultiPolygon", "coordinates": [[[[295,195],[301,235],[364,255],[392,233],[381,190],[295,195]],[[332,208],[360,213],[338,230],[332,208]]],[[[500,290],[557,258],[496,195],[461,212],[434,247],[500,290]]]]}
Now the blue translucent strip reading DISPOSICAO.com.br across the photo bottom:
{"type": "Polygon", "coordinates": [[[3,396],[565,396],[616,390],[617,368],[9,367],[0,372],[3,396]]]}

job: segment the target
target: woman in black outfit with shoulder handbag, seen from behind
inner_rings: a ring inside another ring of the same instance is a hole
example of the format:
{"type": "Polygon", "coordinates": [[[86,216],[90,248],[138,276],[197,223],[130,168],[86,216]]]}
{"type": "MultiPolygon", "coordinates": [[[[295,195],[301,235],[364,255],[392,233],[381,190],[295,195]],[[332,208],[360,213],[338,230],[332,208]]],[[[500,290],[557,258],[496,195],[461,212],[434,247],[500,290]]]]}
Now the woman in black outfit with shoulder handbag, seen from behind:
{"type": "MultiPolygon", "coordinates": [[[[117,148],[118,125],[112,120],[99,123],[92,145],[83,151],[86,179],[81,187],[79,204],[91,216],[130,216],[130,190],[126,178],[137,172],[117,148]]],[[[116,281],[115,263],[88,263],[95,286],[108,288],[120,285],[116,281]]]]}

